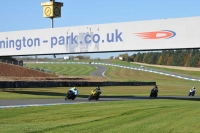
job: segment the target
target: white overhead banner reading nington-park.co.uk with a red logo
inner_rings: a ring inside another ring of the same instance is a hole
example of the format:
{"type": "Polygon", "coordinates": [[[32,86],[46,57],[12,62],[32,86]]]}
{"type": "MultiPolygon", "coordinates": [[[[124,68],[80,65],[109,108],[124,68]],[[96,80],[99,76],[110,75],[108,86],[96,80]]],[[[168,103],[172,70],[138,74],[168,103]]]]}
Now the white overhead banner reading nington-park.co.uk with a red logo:
{"type": "Polygon", "coordinates": [[[200,17],[0,33],[0,56],[199,48],[200,17]]]}

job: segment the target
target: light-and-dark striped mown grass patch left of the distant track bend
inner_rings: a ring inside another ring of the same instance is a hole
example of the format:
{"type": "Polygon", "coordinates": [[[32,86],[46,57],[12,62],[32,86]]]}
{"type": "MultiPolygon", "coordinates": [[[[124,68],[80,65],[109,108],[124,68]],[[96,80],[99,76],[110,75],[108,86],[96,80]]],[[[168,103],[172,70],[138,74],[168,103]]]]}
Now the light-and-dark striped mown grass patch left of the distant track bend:
{"type": "Polygon", "coordinates": [[[50,70],[65,76],[89,76],[96,68],[91,65],[75,64],[27,64],[27,66],[50,70]]]}

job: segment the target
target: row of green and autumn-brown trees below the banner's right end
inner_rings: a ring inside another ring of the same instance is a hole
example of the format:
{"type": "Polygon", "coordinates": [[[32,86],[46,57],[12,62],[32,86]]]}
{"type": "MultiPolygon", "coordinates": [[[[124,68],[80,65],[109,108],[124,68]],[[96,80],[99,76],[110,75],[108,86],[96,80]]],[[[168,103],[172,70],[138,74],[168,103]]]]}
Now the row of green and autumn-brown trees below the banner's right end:
{"type": "Polygon", "coordinates": [[[186,50],[162,50],[161,52],[138,52],[129,56],[126,54],[119,55],[124,57],[124,61],[169,65],[169,66],[185,66],[200,67],[200,51],[199,49],[186,50]]]}

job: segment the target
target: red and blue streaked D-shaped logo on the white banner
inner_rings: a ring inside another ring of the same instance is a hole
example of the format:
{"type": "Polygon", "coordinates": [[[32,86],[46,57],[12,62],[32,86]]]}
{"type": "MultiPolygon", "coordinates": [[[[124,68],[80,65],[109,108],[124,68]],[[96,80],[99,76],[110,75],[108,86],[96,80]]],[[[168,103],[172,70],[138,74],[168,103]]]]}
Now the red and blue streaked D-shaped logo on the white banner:
{"type": "Polygon", "coordinates": [[[176,36],[176,32],[171,31],[171,30],[141,32],[141,33],[135,33],[135,34],[136,36],[139,36],[142,39],[169,39],[176,36]]]}

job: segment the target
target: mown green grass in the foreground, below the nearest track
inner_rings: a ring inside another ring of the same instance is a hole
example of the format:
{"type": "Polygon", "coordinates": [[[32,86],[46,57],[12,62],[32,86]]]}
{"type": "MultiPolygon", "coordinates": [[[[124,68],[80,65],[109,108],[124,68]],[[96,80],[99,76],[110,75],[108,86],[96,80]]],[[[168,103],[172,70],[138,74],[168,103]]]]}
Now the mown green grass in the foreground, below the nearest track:
{"type": "Polygon", "coordinates": [[[199,101],[135,100],[1,109],[2,133],[197,133],[199,101]]]}

